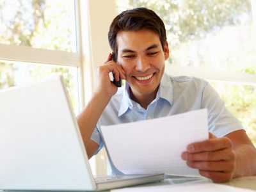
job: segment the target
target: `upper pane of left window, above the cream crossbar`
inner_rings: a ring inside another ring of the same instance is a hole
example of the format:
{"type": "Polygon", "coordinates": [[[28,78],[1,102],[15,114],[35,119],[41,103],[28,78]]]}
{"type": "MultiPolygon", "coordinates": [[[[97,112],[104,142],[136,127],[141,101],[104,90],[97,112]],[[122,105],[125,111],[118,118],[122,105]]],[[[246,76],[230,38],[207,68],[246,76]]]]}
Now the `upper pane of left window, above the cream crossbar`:
{"type": "Polygon", "coordinates": [[[0,1],[0,43],[76,52],[74,1],[0,1]]]}

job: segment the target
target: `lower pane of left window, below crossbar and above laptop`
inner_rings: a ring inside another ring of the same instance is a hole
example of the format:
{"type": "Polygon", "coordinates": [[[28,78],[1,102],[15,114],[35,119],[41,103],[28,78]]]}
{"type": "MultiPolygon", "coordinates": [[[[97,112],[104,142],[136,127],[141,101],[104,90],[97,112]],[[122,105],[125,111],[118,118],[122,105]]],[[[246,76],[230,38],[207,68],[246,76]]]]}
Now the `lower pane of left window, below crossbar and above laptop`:
{"type": "Polygon", "coordinates": [[[19,86],[44,79],[52,74],[62,74],[67,85],[74,112],[79,113],[79,97],[77,84],[77,67],[42,65],[17,61],[0,61],[0,89],[19,86]]]}

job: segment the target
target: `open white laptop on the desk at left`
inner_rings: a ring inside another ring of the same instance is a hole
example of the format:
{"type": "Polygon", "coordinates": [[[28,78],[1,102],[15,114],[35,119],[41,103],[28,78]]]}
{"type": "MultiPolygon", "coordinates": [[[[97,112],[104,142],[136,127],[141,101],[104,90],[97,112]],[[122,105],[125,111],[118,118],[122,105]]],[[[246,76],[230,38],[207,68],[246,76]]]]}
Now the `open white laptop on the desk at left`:
{"type": "Polygon", "coordinates": [[[0,190],[100,191],[164,179],[95,181],[61,76],[0,91],[0,190]]]}

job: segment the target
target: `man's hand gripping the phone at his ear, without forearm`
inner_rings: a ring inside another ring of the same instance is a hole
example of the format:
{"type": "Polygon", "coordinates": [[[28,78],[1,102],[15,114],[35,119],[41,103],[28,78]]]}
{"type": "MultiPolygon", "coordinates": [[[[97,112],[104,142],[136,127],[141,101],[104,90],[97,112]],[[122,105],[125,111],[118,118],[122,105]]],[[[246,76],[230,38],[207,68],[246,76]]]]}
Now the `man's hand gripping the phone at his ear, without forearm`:
{"type": "Polygon", "coordinates": [[[115,84],[110,81],[109,72],[113,72],[113,76],[115,77],[116,81],[120,78],[125,79],[125,72],[121,65],[118,65],[115,61],[112,61],[112,54],[109,53],[108,60],[97,67],[96,70],[96,90],[95,93],[99,93],[111,99],[113,95],[117,92],[117,87],[115,84]]]}

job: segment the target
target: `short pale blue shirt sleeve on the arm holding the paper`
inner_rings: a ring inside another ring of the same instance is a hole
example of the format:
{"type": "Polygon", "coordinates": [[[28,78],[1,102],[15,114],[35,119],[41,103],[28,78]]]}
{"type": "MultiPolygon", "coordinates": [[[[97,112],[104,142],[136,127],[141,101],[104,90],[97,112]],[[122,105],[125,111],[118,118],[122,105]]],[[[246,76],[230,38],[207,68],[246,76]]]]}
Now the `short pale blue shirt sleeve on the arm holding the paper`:
{"type": "Polygon", "coordinates": [[[208,109],[208,127],[218,138],[243,129],[243,125],[228,111],[218,93],[207,83],[202,92],[202,108],[208,109]]]}

